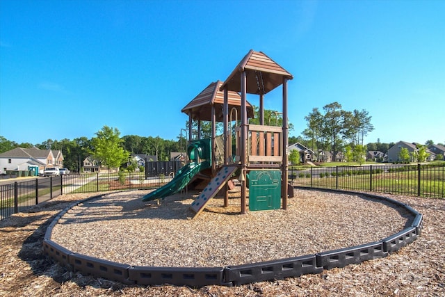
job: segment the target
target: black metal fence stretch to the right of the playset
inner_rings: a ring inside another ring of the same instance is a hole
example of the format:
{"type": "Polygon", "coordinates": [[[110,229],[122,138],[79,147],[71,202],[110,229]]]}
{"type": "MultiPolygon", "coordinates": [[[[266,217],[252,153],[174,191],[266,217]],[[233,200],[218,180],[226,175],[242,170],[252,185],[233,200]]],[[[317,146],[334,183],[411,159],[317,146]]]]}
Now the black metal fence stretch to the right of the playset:
{"type": "Polygon", "coordinates": [[[371,165],[289,170],[294,186],[445,198],[445,165],[371,165]]]}

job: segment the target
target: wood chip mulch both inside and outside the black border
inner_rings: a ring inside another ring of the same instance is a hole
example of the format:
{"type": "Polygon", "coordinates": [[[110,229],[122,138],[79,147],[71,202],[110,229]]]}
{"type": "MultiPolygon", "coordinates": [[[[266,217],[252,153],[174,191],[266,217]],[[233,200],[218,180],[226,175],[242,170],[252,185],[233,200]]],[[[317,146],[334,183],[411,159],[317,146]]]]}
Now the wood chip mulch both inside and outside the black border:
{"type": "MultiPolygon", "coordinates": [[[[93,257],[143,266],[229,266],[382,239],[412,216],[361,195],[295,190],[289,209],[238,214],[220,198],[191,219],[196,193],[141,202],[147,191],[103,193],[69,211],[52,240],[93,257]]],[[[61,195],[0,222],[0,296],[445,296],[445,200],[387,195],[423,214],[419,239],[383,259],[240,287],[128,286],[84,276],[44,255],[59,211],[92,194],[61,195]]],[[[95,193],[94,195],[97,195],[95,193]]]]}

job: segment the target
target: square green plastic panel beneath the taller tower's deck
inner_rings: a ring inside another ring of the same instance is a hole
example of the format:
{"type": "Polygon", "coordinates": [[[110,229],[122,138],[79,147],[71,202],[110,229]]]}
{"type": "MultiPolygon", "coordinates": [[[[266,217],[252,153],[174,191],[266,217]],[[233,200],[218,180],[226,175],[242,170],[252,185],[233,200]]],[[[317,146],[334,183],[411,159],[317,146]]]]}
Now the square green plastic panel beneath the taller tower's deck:
{"type": "Polygon", "coordinates": [[[252,170],[249,172],[249,210],[280,209],[280,170],[252,170]]]}

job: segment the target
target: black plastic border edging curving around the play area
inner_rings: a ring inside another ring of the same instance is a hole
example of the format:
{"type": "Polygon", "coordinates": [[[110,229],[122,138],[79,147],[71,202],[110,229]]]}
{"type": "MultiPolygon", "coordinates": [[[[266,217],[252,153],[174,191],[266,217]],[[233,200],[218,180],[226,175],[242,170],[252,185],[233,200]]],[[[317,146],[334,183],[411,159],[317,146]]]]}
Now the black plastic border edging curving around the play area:
{"type": "Polygon", "coordinates": [[[49,257],[72,271],[79,271],[84,275],[93,275],[97,278],[106,278],[122,282],[123,284],[174,284],[190,287],[204,287],[217,284],[232,287],[252,282],[280,280],[311,273],[316,274],[321,273],[324,269],[341,268],[349,264],[359,264],[371,259],[387,257],[392,252],[396,252],[407,244],[412,243],[421,234],[423,216],[407,204],[385,196],[369,193],[325,189],[323,191],[364,195],[368,198],[382,200],[394,204],[396,207],[403,207],[414,216],[414,219],[410,227],[406,227],[385,239],[380,239],[380,241],[339,250],[318,252],[315,255],[226,267],[130,266],[88,255],[81,255],[51,241],[51,233],[58,220],[73,207],[88,200],[102,197],[102,195],[97,195],[71,204],[63,211],[60,211],[49,224],[49,227],[47,227],[43,248],[49,257]]]}

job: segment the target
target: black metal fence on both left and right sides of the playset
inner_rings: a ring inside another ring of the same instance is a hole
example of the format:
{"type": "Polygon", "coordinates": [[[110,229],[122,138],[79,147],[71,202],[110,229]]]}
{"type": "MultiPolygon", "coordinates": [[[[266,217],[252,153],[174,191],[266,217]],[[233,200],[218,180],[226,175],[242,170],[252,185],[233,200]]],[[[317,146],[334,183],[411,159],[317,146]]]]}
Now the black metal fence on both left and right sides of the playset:
{"type": "MultiPolygon", "coordinates": [[[[170,166],[165,168],[170,170],[170,166]]],[[[173,173],[157,176],[147,176],[145,172],[90,173],[1,184],[0,218],[3,220],[61,194],[159,188],[172,177],[173,173]]],[[[310,188],[445,198],[445,165],[291,168],[289,181],[293,186],[310,188]]]]}

